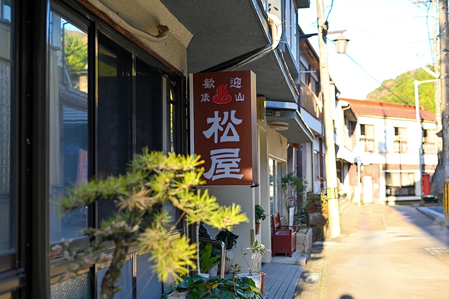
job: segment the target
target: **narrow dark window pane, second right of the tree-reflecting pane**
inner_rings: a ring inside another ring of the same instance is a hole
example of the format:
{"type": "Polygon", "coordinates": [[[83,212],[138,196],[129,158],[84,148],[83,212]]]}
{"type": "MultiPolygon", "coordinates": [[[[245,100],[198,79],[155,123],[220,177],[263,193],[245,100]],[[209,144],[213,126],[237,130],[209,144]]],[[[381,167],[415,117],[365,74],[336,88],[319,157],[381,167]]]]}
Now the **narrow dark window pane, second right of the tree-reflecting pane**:
{"type": "Polygon", "coordinates": [[[162,150],[162,75],[136,59],[136,150],[162,150]]]}

